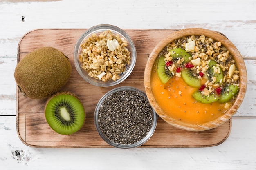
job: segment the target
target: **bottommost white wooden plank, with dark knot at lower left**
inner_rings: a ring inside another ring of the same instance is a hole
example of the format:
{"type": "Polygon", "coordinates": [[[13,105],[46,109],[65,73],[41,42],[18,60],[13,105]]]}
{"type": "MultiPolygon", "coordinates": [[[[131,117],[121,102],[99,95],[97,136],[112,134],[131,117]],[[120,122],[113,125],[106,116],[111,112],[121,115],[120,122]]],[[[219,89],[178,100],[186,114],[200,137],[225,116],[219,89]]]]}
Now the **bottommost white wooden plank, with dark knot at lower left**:
{"type": "Polygon", "coordinates": [[[15,116],[0,116],[0,169],[207,169],[255,170],[256,118],[233,118],[229,138],[209,148],[31,148],[16,135],[15,116]],[[18,162],[11,149],[23,150],[18,162]]]}

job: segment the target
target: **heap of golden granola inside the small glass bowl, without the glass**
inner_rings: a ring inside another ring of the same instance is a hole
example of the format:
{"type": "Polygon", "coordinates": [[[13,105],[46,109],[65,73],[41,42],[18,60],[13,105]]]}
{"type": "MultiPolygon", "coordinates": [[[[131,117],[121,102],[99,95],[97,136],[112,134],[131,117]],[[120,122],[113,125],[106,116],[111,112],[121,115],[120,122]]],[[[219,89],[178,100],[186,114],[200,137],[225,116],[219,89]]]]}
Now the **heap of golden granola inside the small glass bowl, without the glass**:
{"type": "Polygon", "coordinates": [[[116,81],[125,71],[126,64],[130,64],[130,51],[126,46],[128,43],[110,30],[100,35],[93,33],[81,44],[79,61],[90,77],[103,82],[116,81]]]}

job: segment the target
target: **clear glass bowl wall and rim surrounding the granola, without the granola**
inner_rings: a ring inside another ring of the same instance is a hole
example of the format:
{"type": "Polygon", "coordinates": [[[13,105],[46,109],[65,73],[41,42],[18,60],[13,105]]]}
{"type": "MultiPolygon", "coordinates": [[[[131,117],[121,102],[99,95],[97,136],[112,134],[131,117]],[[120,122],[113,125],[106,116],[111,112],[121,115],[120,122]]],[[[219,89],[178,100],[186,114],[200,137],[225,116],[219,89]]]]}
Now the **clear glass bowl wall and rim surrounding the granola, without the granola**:
{"type": "Polygon", "coordinates": [[[85,79],[90,84],[93,84],[95,86],[101,86],[101,87],[114,86],[116,84],[119,84],[120,82],[123,82],[132,72],[135,66],[136,56],[137,54],[136,54],[135,44],[133,43],[130,36],[124,30],[118,28],[117,26],[112,26],[108,24],[93,26],[90,29],[86,30],[78,39],[74,47],[74,64],[79,75],[81,75],[81,77],[83,77],[83,79],[85,79]],[[79,61],[79,55],[83,50],[81,47],[81,44],[83,44],[83,42],[86,39],[88,39],[93,33],[96,33],[96,35],[100,35],[106,30],[110,30],[114,35],[118,34],[121,39],[123,38],[124,40],[127,41],[128,45],[126,46],[126,48],[130,51],[130,64],[126,64],[125,71],[119,74],[120,79],[117,79],[115,81],[111,79],[106,82],[103,82],[99,79],[95,79],[88,75],[88,72],[82,68],[82,62],[79,61]]]}

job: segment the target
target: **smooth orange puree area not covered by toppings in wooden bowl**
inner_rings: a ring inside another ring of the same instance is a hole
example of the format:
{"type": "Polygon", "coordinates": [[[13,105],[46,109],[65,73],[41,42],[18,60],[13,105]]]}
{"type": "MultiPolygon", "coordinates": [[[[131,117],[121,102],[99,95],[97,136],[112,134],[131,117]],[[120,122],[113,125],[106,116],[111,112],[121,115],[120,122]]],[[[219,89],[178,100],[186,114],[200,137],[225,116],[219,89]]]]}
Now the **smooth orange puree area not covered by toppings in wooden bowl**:
{"type": "Polygon", "coordinates": [[[216,119],[227,111],[224,104],[219,102],[196,102],[192,93],[198,88],[187,85],[182,77],[173,76],[166,84],[162,84],[155,65],[151,74],[151,88],[157,104],[166,115],[190,124],[202,124],[216,119]]]}

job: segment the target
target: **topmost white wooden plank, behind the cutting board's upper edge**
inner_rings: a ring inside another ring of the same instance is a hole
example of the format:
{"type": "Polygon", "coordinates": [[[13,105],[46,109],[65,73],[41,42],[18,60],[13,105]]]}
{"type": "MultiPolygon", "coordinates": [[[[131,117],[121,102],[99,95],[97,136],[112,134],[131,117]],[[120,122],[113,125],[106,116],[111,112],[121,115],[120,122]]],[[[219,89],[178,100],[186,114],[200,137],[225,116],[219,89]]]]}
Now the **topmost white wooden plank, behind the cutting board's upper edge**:
{"type": "Polygon", "coordinates": [[[2,1],[0,57],[16,56],[18,41],[33,29],[113,24],[124,29],[213,29],[227,35],[244,57],[252,58],[256,57],[255,8],[253,0],[195,0],[193,5],[189,0],[2,1]]]}

